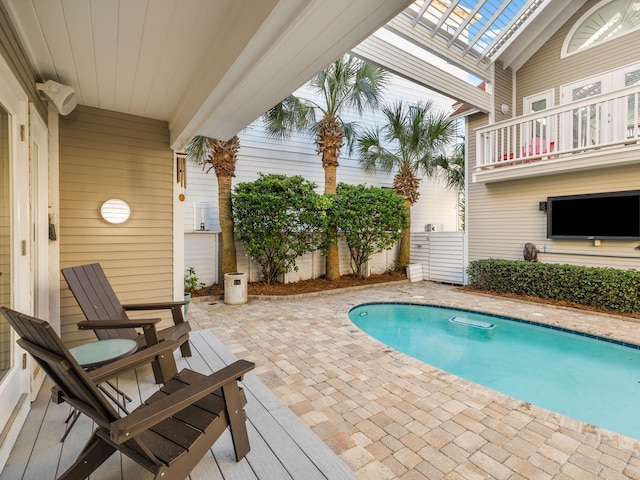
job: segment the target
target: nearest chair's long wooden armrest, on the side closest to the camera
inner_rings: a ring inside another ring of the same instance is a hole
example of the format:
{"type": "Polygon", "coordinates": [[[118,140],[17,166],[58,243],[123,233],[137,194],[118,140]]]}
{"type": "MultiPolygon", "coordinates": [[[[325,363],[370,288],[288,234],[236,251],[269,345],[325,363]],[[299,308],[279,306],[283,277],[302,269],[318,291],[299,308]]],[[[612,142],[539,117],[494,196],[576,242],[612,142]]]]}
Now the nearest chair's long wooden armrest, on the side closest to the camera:
{"type": "Polygon", "coordinates": [[[148,431],[154,425],[193,405],[218,388],[241,379],[245,373],[254,368],[254,363],[238,360],[196,383],[187,385],[149,405],[141,406],[126,417],[111,423],[111,440],[121,444],[148,431]]]}

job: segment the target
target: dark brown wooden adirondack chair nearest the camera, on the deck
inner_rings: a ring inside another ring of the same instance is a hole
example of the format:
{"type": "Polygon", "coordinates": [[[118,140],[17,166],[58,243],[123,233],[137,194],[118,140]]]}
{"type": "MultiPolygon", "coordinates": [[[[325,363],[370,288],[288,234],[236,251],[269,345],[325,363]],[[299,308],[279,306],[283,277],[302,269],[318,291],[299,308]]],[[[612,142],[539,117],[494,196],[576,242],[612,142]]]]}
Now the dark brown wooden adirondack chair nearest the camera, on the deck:
{"type": "MultiPolygon", "coordinates": [[[[237,381],[255,367],[253,363],[238,360],[208,376],[182,370],[143,405],[121,418],[96,387],[96,378],[109,373],[101,368],[85,372],[47,322],[7,307],[1,307],[0,313],[21,337],[18,344],[55,382],[53,401],[67,402],[97,425],[78,459],[59,480],[88,477],[115,451],[152,472],[155,479],[182,480],[227,427],[236,460],[249,452],[243,409],[247,400],[237,381]]],[[[147,350],[158,348],[163,345],[147,350]]],[[[145,351],[128,359],[135,363],[137,356],[143,355],[145,351]]],[[[113,370],[115,364],[125,361],[127,358],[104,368],[113,370]]]]}

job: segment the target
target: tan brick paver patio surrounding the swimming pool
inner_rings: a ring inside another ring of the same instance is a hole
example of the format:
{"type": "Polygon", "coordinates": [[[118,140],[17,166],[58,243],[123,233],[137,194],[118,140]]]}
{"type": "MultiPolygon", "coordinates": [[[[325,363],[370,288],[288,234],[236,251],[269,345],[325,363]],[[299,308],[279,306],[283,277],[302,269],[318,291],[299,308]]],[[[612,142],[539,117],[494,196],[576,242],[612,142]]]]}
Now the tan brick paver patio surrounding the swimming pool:
{"type": "Polygon", "coordinates": [[[460,379],[356,328],[366,302],[444,305],[640,344],[640,323],[429,282],[225,305],[197,301],[209,328],[362,479],[640,480],[640,442],[460,379]]]}

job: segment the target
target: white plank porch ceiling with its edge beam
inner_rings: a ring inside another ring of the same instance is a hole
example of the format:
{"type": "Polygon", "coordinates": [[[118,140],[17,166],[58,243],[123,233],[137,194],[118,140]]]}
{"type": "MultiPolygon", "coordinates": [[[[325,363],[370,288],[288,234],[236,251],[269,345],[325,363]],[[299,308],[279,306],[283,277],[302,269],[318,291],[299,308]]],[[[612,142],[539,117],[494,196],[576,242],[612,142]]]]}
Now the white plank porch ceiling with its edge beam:
{"type": "Polygon", "coordinates": [[[1,0],[41,80],[229,138],[411,0],[1,0]]]}

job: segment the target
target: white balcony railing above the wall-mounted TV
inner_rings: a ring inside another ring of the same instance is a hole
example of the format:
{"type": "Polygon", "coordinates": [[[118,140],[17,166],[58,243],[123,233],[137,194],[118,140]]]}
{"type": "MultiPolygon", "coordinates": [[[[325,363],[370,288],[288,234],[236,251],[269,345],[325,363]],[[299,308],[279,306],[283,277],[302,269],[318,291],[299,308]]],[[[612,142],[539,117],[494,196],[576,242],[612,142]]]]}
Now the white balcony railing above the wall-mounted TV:
{"type": "Polygon", "coordinates": [[[640,143],[640,85],[476,130],[476,171],[576,159],[640,143]]]}

